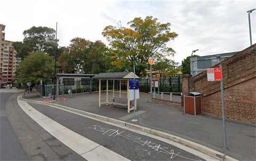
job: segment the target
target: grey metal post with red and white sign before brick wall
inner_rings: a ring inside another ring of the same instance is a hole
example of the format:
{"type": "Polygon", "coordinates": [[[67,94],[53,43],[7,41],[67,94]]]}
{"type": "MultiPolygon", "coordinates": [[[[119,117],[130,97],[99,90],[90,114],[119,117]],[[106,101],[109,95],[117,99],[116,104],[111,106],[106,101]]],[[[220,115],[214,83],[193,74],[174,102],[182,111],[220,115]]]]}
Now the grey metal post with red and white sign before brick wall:
{"type": "Polygon", "coordinates": [[[227,149],[224,92],[223,92],[223,80],[222,80],[222,65],[220,65],[220,68],[207,69],[207,80],[208,81],[220,81],[222,120],[223,120],[223,133],[224,133],[224,148],[227,149]]]}

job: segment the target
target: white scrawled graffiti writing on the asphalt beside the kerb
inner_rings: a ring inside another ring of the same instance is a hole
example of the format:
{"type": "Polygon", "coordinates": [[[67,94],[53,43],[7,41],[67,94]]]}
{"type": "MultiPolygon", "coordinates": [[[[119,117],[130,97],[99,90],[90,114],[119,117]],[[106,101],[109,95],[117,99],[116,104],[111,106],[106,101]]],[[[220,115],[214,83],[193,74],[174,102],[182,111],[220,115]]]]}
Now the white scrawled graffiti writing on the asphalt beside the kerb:
{"type": "Polygon", "coordinates": [[[162,152],[162,153],[167,154],[167,155],[171,155],[170,159],[172,159],[174,157],[181,157],[181,158],[186,158],[188,160],[201,161],[200,159],[191,159],[191,158],[187,158],[187,157],[181,156],[181,155],[179,155],[180,152],[174,153],[173,149],[168,151],[169,148],[161,147],[161,144],[156,144],[156,143],[148,141],[148,140],[147,141],[143,141],[138,136],[134,136],[134,135],[131,135],[131,134],[123,134],[122,135],[122,133],[125,130],[119,133],[119,129],[118,130],[114,130],[114,129],[109,129],[109,128],[103,128],[103,127],[98,126],[98,125],[92,125],[92,126],[93,127],[85,127],[85,128],[90,128],[90,129],[93,129],[95,131],[102,132],[102,135],[106,134],[108,136],[113,136],[113,137],[115,137],[115,136],[122,136],[123,138],[126,138],[128,140],[133,140],[133,142],[137,142],[137,143],[141,144],[141,146],[147,146],[147,147],[149,147],[151,149],[154,149],[155,151],[162,152]]]}

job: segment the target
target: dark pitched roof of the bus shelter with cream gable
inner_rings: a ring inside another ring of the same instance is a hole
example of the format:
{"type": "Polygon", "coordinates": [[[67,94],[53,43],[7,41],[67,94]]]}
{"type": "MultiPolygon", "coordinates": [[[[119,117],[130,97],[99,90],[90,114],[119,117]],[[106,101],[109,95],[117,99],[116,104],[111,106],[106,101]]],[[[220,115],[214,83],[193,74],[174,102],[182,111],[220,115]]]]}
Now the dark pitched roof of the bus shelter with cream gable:
{"type": "MultiPolygon", "coordinates": [[[[119,72],[119,73],[100,73],[97,76],[92,77],[92,79],[133,79],[133,72],[119,72]]],[[[135,79],[139,79],[137,75],[135,75],[135,79]]]]}

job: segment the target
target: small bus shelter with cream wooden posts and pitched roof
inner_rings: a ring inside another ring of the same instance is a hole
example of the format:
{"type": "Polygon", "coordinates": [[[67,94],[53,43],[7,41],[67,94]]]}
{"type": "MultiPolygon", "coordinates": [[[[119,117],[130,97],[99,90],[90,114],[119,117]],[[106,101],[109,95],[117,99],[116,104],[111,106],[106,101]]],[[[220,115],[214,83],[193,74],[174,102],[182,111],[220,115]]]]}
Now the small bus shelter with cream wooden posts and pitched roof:
{"type": "MultiPolygon", "coordinates": [[[[92,79],[99,79],[99,107],[101,104],[109,104],[109,98],[108,98],[108,92],[113,92],[113,99],[115,93],[119,93],[119,98],[121,98],[121,93],[126,93],[127,100],[128,100],[128,112],[131,110],[134,110],[134,107],[130,104],[130,90],[129,90],[129,79],[134,79],[134,73],[133,72],[121,72],[121,73],[101,73],[97,76],[92,77],[92,79]],[[106,94],[106,102],[101,102],[101,81],[107,81],[107,94],[106,94]],[[113,91],[108,90],[108,80],[113,80],[113,91]],[[119,91],[115,91],[115,80],[119,80],[119,91]],[[127,81],[127,91],[122,92],[121,91],[121,80],[127,81]]],[[[135,79],[139,79],[137,75],[135,75],[135,79]]],[[[135,110],[137,109],[137,100],[134,100],[134,106],[135,110]]]]}

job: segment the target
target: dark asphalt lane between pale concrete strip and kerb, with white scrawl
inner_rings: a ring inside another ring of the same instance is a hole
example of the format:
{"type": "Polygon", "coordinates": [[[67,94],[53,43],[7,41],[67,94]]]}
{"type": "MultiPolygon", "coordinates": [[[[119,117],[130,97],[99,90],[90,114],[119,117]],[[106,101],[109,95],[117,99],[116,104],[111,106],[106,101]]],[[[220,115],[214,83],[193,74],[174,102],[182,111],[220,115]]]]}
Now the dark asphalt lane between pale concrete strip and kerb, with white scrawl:
{"type": "Polygon", "coordinates": [[[71,131],[130,160],[204,160],[169,143],[118,126],[42,104],[28,104],[71,131]]]}

